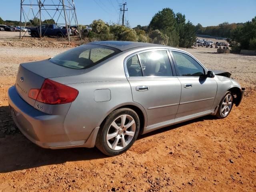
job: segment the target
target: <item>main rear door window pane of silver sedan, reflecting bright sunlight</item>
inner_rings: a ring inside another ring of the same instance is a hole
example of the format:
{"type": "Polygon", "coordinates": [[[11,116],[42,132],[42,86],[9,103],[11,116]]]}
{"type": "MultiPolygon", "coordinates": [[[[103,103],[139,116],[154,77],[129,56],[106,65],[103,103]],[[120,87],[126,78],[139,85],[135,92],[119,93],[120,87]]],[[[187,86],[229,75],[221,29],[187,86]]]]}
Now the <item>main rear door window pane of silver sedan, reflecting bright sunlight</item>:
{"type": "Polygon", "coordinates": [[[150,51],[138,54],[143,76],[173,76],[166,51],[150,51]]]}

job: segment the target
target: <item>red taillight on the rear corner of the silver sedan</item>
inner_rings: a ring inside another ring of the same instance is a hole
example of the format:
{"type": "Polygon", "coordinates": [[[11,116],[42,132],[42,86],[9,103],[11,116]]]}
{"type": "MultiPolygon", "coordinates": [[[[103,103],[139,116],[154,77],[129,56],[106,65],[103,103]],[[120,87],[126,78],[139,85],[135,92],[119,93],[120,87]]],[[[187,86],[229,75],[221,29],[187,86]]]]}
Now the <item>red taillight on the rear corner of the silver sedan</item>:
{"type": "Polygon", "coordinates": [[[45,104],[64,104],[73,102],[78,90],[52,81],[50,79],[44,80],[41,89],[31,89],[28,96],[38,102],[45,104]]]}

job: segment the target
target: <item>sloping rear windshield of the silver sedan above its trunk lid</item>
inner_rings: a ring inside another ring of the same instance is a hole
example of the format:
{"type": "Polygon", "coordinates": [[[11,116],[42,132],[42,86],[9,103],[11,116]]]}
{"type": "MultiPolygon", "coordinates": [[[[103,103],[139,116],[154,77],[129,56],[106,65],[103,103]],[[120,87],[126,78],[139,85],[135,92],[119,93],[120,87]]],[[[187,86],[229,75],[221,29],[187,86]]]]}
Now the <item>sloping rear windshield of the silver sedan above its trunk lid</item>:
{"type": "Polygon", "coordinates": [[[107,46],[86,44],[54,56],[49,61],[67,68],[86,69],[120,52],[107,46]]]}

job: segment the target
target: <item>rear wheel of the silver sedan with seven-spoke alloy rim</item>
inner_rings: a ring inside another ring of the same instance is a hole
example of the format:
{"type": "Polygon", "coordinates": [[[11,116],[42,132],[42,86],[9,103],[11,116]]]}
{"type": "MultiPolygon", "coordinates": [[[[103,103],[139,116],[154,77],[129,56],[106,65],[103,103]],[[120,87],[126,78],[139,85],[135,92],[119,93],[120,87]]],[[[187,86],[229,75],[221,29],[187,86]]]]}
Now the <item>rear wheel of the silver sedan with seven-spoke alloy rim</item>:
{"type": "Polygon", "coordinates": [[[95,145],[108,156],[119,155],[134,144],[139,131],[138,114],[129,108],[117,109],[100,126],[95,145]]]}

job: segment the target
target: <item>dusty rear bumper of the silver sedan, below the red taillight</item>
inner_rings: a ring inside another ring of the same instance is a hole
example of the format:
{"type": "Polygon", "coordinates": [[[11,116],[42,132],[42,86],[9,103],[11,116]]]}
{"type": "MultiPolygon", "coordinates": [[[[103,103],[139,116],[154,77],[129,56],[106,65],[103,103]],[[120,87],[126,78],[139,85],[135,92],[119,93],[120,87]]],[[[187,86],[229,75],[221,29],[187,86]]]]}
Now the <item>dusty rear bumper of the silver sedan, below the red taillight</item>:
{"type": "Polygon", "coordinates": [[[30,141],[43,148],[70,145],[63,127],[65,116],[40,112],[18,95],[15,86],[8,90],[8,102],[15,124],[30,141]]]}

